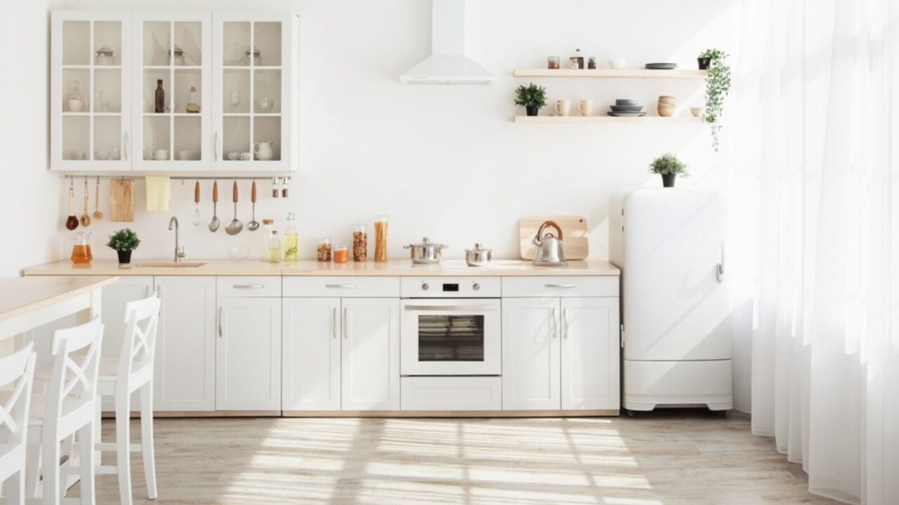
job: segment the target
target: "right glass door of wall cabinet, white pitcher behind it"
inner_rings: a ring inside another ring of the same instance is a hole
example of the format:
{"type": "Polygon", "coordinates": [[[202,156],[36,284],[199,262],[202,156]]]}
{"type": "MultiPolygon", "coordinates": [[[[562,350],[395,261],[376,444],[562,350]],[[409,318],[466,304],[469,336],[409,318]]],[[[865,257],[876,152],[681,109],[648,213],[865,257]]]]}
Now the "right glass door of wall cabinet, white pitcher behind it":
{"type": "Polygon", "coordinates": [[[295,20],[289,13],[214,14],[217,170],[291,169],[295,20]]]}

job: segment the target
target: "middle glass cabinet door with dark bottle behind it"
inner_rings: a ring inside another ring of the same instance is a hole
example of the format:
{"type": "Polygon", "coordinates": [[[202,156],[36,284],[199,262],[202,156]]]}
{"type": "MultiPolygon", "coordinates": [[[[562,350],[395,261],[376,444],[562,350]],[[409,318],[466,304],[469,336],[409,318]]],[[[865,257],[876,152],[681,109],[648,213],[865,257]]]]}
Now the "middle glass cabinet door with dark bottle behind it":
{"type": "Polygon", "coordinates": [[[134,170],[209,170],[209,13],[135,13],[134,170]]]}

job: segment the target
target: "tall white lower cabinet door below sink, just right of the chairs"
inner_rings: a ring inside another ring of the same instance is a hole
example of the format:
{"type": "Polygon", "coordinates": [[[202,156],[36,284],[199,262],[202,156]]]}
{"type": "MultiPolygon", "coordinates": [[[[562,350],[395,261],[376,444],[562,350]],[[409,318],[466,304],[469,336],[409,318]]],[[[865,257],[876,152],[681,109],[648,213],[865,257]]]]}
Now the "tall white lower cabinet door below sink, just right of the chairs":
{"type": "Polygon", "coordinates": [[[216,409],[216,278],[156,277],[156,411],[216,409]]]}

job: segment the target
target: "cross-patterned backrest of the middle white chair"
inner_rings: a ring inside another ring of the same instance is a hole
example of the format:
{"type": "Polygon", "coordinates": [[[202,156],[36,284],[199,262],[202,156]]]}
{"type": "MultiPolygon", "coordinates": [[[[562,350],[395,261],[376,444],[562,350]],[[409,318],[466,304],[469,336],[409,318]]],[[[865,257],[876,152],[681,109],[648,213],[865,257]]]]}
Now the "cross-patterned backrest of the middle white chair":
{"type": "Polygon", "coordinates": [[[93,402],[97,395],[102,340],[103,324],[99,315],[89,323],[53,332],[50,348],[53,372],[47,385],[45,422],[58,420],[84,403],[93,402]],[[67,398],[75,401],[64,412],[67,398]]]}

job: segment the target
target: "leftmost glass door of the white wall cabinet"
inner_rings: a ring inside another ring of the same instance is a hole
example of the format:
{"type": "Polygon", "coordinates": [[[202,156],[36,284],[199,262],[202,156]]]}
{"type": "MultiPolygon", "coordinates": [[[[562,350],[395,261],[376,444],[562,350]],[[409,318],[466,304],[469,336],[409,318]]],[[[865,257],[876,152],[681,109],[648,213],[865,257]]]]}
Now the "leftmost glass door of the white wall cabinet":
{"type": "Polygon", "coordinates": [[[129,29],[129,13],[53,13],[53,170],[130,170],[129,29]]]}

